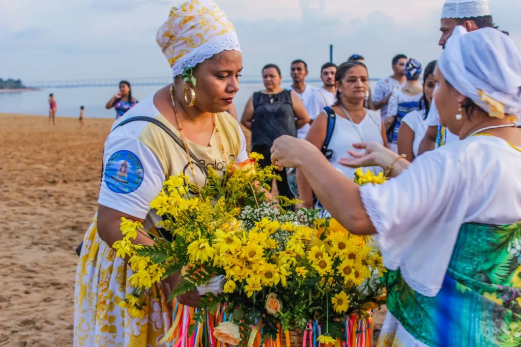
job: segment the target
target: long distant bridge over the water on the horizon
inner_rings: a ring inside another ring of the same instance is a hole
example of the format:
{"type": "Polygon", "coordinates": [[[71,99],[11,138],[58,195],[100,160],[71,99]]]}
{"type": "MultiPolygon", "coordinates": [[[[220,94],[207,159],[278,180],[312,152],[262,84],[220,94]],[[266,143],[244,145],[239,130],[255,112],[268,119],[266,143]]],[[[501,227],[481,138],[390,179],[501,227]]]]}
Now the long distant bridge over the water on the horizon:
{"type": "MultiPolygon", "coordinates": [[[[378,81],[378,79],[370,79],[378,81]]],[[[121,79],[115,78],[97,78],[85,80],[67,80],[67,81],[34,81],[25,82],[28,88],[81,88],[81,87],[101,87],[101,86],[118,86],[121,79]]],[[[132,86],[141,85],[166,85],[172,82],[171,77],[139,77],[127,79],[132,86]]],[[[241,83],[262,83],[262,77],[254,75],[243,75],[240,79],[241,83]]],[[[291,83],[291,79],[285,78],[283,83],[291,83]]],[[[320,83],[318,78],[308,78],[308,83],[320,83]]]]}

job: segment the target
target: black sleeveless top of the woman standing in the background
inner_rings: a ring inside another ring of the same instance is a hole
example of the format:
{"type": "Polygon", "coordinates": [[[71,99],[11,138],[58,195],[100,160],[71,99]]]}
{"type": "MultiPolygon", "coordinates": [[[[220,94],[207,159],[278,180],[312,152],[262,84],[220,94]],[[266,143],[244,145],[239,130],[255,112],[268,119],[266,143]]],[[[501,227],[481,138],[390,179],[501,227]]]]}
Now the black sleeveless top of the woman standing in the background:
{"type": "Polygon", "coordinates": [[[253,93],[252,146],[271,146],[282,135],[296,137],[291,91],[253,93]]]}

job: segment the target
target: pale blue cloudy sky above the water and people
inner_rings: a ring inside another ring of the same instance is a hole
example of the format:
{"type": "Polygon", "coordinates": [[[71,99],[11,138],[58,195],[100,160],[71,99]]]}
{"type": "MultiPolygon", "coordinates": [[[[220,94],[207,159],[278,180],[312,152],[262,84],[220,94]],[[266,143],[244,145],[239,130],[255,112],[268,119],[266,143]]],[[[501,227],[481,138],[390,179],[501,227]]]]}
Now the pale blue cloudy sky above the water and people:
{"type": "MultiPolygon", "coordinates": [[[[436,59],[443,0],[217,0],[237,29],[244,73],[267,63],[289,75],[304,59],[318,76],[334,61],[366,57],[371,77],[389,75],[398,53],[436,59]],[[309,3],[308,6],[304,3],[309,3]],[[311,11],[306,11],[311,8],[311,11]]],[[[0,77],[26,81],[169,76],[155,43],[179,0],[0,0],[0,77]]],[[[521,1],[491,0],[495,23],[521,47],[521,1]]]]}

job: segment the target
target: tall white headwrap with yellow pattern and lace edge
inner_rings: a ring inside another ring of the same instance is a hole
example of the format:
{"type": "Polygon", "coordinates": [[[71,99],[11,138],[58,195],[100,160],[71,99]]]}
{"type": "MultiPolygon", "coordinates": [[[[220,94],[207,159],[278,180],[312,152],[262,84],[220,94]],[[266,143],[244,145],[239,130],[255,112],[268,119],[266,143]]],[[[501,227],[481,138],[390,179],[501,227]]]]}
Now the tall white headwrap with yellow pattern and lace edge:
{"type": "Polygon", "coordinates": [[[212,0],[188,0],[172,7],[157,30],[156,42],[174,77],[222,51],[241,52],[235,28],[212,0]]]}

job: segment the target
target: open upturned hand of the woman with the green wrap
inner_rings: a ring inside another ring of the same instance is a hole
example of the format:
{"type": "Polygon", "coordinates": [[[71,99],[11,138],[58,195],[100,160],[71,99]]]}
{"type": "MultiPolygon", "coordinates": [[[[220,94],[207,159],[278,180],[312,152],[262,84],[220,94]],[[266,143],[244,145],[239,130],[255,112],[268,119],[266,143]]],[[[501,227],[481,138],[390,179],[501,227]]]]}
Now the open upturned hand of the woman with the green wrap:
{"type": "Polygon", "coordinates": [[[385,168],[390,165],[398,154],[384,147],[377,142],[354,143],[353,147],[358,150],[365,150],[364,153],[348,151],[351,157],[341,158],[338,163],[352,168],[380,166],[385,168]]]}

